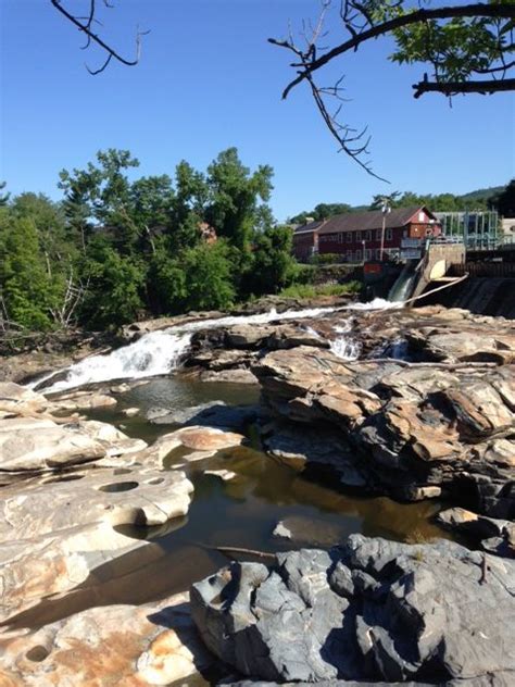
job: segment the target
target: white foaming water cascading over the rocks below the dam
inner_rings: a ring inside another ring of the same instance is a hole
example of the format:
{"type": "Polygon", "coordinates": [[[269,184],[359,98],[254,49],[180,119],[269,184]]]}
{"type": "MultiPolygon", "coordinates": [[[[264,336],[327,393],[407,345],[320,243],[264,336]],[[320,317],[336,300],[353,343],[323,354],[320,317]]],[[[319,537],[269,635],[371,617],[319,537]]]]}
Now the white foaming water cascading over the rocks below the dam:
{"type": "MultiPolygon", "coordinates": [[[[287,320],[302,320],[344,310],[385,310],[388,307],[399,307],[382,299],[375,299],[369,303],[354,303],[341,308],[310,308],[304,310],[288,310],[278,313],[271,310],[258,315],[229,315],[213,320],[198,320],[187,324],[176,325],[167,329],[159,329],[143,335],[128,346],[118,348],[103,355],[90,355],[72,365],[65,372],[64,378],[45,389],[46,394],[63,391],[85,384],[108,382],[110,379],[137,379],[165,375],[175,370],[188,350],[191,336],[200,329],[215,329],[237,324],[267,324],[287,320]]],[[[347,324],[337,333],[347,333],[347,324]]],[[[360,354],[360,347],[351,338],[341,336],[331,344],[332,352],[343,360],[355,360],[360,354]]],[[[51,379],[55,373],[30,385],[37,387],[41,382],[51,379]]]]}

